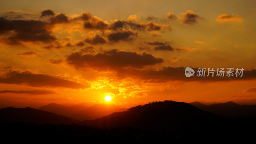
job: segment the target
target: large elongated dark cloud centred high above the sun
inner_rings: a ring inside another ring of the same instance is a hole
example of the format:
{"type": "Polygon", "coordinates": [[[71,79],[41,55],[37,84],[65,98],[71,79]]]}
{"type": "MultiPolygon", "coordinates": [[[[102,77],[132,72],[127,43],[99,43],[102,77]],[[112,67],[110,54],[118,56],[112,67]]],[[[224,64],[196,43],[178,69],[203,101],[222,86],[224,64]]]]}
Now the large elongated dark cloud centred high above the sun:
{"type": "Polygon", "coordinates": [[[151,54],[119,51],[116,49],[97,54],[73,52],[67,58],[68,64],[76,68],[90,67],[96,69],[143,68],[147,65],[162,63],[163,59],[151,54]]]}

